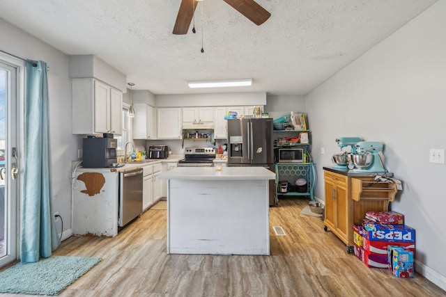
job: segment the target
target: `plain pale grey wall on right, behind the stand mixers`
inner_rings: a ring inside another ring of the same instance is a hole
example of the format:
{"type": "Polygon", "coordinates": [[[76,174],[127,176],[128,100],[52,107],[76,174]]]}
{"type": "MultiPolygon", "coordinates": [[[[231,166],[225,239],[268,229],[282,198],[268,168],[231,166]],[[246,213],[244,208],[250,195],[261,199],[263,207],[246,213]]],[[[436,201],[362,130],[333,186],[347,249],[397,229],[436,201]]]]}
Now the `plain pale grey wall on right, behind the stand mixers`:
{"type": "Polygon", "coordinates": [[[403,182],[391,207],[416,230],[418,271],[443,289],[446,165],[429,163],[429,149],[446,147],[445,15],[438,1],[307,95],[316,196],[323,198],[322,168],[339,152],[337,137],[382,141],[387,169],[403,182]]]}

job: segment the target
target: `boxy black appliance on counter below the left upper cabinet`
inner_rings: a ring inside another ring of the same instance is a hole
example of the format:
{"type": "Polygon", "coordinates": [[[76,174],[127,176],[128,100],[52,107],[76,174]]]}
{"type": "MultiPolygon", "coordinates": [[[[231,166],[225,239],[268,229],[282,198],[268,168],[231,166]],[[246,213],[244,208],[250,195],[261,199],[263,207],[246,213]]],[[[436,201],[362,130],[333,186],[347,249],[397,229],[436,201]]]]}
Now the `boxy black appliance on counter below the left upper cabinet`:
{"type": "Polygon", "coordinates": [[[86,168],[114,167],[118,141],[114,138],[84,138],[82,140],[82,166],[86,168]]]}

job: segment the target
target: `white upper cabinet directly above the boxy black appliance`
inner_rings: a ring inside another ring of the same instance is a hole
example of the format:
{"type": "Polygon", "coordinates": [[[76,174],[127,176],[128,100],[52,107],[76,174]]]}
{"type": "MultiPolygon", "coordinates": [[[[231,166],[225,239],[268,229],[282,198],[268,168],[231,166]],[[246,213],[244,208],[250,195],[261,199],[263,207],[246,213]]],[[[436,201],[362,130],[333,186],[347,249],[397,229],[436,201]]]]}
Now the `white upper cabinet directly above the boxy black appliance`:
{"type": "Polygon", "coordinates": [[[96,79],[72,79],[72,134],[122,134],[123,93],[96,79]]]}

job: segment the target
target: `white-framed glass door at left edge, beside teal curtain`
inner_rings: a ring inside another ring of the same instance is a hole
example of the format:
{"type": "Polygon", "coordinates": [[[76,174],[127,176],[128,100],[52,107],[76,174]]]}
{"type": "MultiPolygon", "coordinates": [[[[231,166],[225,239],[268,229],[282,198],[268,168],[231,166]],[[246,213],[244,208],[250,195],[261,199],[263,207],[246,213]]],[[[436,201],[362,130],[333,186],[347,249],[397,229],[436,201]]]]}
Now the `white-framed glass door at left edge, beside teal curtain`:
{"type": "Polygon", "coordinates": [[[0,266],[17,259],[18,74],[23,65],[0,52],[0,266]]]}

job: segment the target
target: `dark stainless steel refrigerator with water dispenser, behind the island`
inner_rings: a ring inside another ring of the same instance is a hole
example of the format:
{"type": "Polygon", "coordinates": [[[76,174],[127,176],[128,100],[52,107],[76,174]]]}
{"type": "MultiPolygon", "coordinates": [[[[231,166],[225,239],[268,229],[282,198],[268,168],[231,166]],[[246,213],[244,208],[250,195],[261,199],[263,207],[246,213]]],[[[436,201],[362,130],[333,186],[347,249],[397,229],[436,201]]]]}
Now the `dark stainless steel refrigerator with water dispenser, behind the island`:
{"type": "MultiPolygon", "coordinates": [[[[228,166],[263,166],[274,172],[272,118],[227,120],[228,166]]],[[[275,180],[270,180],[270,205],[277,205],[275,180]]]]}

